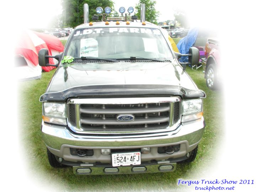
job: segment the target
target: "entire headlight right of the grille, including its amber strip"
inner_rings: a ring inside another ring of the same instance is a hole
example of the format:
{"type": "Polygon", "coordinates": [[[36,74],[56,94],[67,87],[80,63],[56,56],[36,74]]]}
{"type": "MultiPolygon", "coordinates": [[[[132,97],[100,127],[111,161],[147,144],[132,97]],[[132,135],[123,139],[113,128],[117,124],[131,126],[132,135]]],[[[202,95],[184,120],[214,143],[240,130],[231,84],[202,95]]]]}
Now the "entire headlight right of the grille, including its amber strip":
{"type": "Polygon", "coordinates": [[[191,99],[182,101],[181,122],[192,121],[203,116],[202,99],[191,99]]]}

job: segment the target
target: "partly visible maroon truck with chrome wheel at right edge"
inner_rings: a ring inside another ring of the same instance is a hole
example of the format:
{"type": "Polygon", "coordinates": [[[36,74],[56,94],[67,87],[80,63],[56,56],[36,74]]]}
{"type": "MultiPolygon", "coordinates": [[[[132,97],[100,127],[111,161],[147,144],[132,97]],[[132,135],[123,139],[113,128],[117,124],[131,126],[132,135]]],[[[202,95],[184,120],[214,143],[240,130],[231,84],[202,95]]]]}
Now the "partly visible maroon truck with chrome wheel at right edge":
{"type": "Polygon", "coordinates": [[[220,87],[220,50],[217,39],[207,39],[204,55],[205,58],[202,58],[202,65],[206,85],[209,89],[216,90],[220,87]]]}

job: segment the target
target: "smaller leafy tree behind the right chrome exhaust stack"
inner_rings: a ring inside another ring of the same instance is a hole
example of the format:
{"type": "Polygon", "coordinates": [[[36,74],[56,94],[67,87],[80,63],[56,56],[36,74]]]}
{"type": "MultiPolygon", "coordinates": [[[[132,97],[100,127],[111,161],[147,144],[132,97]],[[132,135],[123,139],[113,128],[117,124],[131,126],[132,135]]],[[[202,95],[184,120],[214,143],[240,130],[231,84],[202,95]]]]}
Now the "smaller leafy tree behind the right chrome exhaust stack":
{"type": "Polygon", "coordinates": [[[135,9],[137,10],[136,14],[138,16],[138,19],[140,19],[140,4],[145,4],[145,15],[146,15],[146,21],[149,21],[154,24],[157,23],[157,18],[159,16],[159,11],[156,11],[155,4],[156,1],[153,0],[139,0],[139,3],[136,4],[135,9]]]}

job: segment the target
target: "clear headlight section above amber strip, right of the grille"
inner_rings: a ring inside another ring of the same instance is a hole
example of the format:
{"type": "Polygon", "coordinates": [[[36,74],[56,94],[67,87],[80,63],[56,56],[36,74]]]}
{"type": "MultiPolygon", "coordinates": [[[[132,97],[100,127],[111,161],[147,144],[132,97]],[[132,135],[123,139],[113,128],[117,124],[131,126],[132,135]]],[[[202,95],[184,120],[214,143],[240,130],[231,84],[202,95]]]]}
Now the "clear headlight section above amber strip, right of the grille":
{"type": "Polygon", "coordinates": [[[182,101],[182,115],[201,112],[203,109],[202,99],[191,99],[182,101]]]}

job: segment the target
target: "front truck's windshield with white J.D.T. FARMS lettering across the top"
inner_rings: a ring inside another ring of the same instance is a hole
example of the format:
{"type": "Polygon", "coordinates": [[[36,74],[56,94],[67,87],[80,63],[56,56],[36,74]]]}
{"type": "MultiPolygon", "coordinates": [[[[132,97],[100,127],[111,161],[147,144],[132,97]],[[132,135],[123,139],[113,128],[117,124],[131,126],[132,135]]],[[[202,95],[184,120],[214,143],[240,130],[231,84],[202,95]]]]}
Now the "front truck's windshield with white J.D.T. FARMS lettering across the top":
{"type": "Polygon", "coordinates": [[[134,27],[76,30],[67,44],[64,55],[101,59],[130,57],[173,59],[171,50],[160,30],[134,27]]]}

